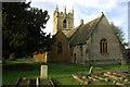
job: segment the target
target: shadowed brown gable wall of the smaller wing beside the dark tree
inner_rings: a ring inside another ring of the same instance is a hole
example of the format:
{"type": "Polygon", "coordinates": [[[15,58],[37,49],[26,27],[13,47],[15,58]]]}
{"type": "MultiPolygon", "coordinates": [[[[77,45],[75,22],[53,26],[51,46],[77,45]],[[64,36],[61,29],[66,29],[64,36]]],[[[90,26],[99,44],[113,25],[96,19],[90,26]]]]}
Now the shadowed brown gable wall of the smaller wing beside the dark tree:
{"type": "Polygon", "coordinates": [[[50,61],[67,61],[68,60],[68,42],[65,35],[60,30],[55,36],[55,41],[52,46],[52,50],[50,52],[50,61]],[[57,52],[57,44],[62,44],[62,52],[57,52]]]}

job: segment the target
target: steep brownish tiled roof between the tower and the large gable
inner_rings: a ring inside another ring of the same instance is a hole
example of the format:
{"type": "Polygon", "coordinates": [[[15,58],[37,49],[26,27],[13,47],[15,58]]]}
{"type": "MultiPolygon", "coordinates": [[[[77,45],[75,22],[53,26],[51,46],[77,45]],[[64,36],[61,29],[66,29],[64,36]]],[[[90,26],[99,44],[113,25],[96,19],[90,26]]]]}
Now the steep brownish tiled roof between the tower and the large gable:
{"type": "Polygon", "coordinates": [[[75,28],[76,32],[69,37],[70,46],[84,44],[88,40],[89,36],[91,35],[91,33],[93,32],[94,27],[96,26],[96,24],[99,23],[99,21],[101,20],[101,17],[104,14],[102,14],[98,18],[95,18],[95,20],[93,20],[93,21],[91,21],[91,22],[89,22],[87,24],[81,24],[80,26],[75,28]]]}

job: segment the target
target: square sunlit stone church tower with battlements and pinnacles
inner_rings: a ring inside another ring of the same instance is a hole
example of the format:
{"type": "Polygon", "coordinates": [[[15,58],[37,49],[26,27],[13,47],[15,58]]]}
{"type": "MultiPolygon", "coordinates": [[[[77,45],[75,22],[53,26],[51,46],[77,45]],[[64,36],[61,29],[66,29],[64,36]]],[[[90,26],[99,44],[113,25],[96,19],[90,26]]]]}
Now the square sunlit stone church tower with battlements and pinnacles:
{"type": "Polygon", "coordinates": [[[66,13],[66,8],[64,12],[58,12],[56,7],[53,14],[53,32],[52,35],[55,35],[58,29],[70,30],[74,28],[74,10],[69,13],[66,13]]]}

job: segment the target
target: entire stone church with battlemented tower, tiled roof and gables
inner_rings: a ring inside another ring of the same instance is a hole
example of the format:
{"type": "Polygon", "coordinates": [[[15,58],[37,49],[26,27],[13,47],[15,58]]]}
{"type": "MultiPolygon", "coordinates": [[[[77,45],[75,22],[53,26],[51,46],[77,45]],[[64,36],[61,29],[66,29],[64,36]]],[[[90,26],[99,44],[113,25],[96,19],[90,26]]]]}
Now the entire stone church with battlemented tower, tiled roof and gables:
{"type": "Polygon", "coordinates": [[[49,61],[78,64],[125,64],[125,47],[102,12],[74,27],[74,10],[53,13],[54,44],[49,61]]]}

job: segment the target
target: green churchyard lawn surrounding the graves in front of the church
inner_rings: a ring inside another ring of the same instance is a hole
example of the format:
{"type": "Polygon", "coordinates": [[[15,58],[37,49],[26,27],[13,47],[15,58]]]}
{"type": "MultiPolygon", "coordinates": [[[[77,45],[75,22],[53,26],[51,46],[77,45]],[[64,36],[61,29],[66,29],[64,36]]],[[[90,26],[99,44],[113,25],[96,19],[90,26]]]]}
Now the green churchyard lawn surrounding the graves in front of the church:
{"type": "MultiPolygon", "coordinates": [[[[20,77],[36,78],[40,75],[40,62],[12,61],[3,64],[2,83],[3,85],[14,85],[20,77]]],[[[79,85],[72,77],[74,73],[88,73],[90,65],[68,64],[68,63],[49,63],[49,76],[58,85],[79,85]]],[[[130,65],[93,65],[106,70],[128,70],[130,65]]]]}

